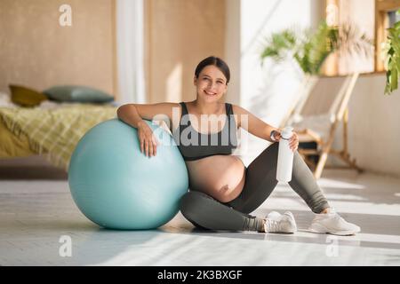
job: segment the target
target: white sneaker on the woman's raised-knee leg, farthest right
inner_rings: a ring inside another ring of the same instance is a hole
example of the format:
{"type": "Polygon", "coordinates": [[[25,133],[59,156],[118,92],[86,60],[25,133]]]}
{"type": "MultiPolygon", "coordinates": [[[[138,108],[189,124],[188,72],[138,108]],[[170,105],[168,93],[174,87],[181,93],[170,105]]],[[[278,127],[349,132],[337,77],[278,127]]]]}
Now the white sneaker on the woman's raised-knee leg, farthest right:
{"type": "Polygon", "coordinates": [[[316,214],[309,231],[312,233],[331,233],[347,236],[359,233],[361,229],[357,225],[348,223],[334,209],[330,208],[326,214],[316,214]]]}

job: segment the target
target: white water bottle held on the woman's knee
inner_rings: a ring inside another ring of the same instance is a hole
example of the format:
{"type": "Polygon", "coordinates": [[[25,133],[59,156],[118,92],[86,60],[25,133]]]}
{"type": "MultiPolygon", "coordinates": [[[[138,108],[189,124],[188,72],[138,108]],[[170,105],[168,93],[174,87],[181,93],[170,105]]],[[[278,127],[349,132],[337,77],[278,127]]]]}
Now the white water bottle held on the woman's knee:
{"type": "Polygon", "coordinates": [[[279,140],[276,179],[284,183],[292,180],[293,151],[289,146],[292,130],[293,128],[291,126],[286,126],[284,130],[282,130],[281,139],[279,140]]]}

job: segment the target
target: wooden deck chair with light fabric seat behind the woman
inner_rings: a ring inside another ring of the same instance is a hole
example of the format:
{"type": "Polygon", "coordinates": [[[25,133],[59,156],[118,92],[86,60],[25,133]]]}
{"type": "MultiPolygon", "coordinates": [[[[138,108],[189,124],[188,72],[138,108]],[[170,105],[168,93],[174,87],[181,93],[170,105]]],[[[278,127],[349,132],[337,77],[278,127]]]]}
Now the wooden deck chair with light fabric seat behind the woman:
{"type": "Polygon", "coordinates": [[[290,114],[281,124],[292,125],[299,134],[300,143],[315,142],[316,149],[299,147],[299,154],[308,167],[314,171],[314,177],[319,178],[324,168],[349,168],[358,172],[363,170],[356,165],[356,160],[348,154],[348,101],[354,91],[358,74],[318,78],[312,87],[302,94],[290,114]],[[326,85],[329,83],[329,87],[326,85]],[[333,87],[333,88],[332,88],[333,87]],[[336,89],[336,90],[332,90],[336,89]],[[328,94],[328,93],[331,94],[328,94]],[[343,148],[332,148],[335,134],[340,122],[343,124],[343,148]],[[338,156],[346,166],[326,166],[328,155],[338,156]],[[309,159],[310,156],[319,156],[317,162],[309,159]]]}

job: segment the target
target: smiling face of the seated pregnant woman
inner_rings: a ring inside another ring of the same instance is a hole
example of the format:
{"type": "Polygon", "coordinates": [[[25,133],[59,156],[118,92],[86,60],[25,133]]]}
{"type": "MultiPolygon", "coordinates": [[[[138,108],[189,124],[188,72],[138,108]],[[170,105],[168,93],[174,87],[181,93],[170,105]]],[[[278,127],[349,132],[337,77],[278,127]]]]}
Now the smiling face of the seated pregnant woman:
{"type": "Polygon", "coordinates": [[[197,99],[208,102],[219,100],[228,89],[227,78],[218,67],[213,65],[204,67],[198,78],[195,76],[195,86],[197,99]]]}

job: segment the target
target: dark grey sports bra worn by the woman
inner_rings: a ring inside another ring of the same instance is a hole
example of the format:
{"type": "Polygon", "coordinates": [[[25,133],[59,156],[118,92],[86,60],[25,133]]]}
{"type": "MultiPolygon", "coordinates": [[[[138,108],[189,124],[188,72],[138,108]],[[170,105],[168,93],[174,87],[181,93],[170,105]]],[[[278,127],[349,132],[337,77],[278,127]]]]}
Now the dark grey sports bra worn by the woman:
{"type": "Polygon", "coordinates": [[[227,118],[218,133],[204,134],[197,132],[190,123],[188,107],[180,102],[180,126],[173,131],[172,137],[180,149],[185,161],[194,161],[215,154],[232,154],[237,146],[236,122],[232,105],[225,103],[227,118]]]}

